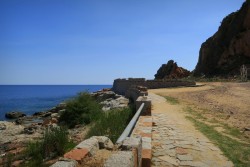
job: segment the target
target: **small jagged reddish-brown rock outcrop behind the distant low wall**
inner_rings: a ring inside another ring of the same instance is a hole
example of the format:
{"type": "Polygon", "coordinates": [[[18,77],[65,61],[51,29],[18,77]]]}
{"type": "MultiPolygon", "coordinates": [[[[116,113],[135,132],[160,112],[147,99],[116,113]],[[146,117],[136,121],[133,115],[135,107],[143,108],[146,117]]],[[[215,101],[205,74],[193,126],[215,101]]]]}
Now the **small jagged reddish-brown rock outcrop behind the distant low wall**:
{"type": "Polygon", "coordinates": [[[167,64],[163,64],[155,74],[155,79],[180,79],[188,77],[190,71],[178,67],[177,63],[169,60],[167,64]]]}

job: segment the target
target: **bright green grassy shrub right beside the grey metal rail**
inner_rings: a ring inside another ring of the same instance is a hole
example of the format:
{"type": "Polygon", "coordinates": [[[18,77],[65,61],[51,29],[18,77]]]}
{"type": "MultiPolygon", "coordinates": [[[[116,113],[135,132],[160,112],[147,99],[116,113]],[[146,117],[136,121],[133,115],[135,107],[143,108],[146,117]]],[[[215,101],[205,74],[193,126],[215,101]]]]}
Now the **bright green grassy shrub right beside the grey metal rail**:
{"type": "Polygon", "coordinates": [[[87,138],[91,136],[107,136],[112,142],[116,142],[132,116],[133,112],[130,108],[104,112],[91,126],[87,138]]]}

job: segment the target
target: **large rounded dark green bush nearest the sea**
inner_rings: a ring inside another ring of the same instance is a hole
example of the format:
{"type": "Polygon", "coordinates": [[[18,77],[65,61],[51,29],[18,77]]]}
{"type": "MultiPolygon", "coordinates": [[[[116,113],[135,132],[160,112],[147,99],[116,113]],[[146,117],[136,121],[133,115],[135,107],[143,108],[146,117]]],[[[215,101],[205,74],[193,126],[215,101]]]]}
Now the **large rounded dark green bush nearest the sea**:
{"type": "Polygon", "coordinates": [[[80,93],[76,98],[66,104],[66,110],[61,114],[59,122],[69,128],[77,124],[89,124],[96,120],[101,113],[101,106],[89,93],[80,93]]]}

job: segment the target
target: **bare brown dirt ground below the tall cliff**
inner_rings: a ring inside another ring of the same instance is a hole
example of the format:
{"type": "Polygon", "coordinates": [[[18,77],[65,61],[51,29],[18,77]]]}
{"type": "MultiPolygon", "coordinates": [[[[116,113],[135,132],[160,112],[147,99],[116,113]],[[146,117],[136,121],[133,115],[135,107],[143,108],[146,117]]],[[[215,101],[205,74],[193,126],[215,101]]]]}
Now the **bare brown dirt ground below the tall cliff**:
{"type": "Polygon", "coordinates": [[[152,89],[149,92],[175,97],[204,116],[236,127],[250,137],[250,82],[197,84],[202,86],[152,89]]]}

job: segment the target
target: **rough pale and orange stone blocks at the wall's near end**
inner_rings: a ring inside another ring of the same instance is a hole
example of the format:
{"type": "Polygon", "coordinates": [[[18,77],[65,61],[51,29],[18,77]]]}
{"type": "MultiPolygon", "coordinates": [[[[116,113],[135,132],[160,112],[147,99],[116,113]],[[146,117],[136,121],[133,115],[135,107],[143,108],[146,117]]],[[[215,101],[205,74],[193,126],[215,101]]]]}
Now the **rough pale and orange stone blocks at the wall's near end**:
{"type": "MultiPolygon", "coordinates": [[[[86,160],[90,160],[90,164],[88,163],[86,166],[94,166],[94,164],[92,164],[96,163],[94,156],[102,149],[109,150],[111,155],[105,162],[101,162],[102,164],[99,164],[100,166],[141,167],[143,155],[142,138],[140,136],[127,137],[121,145],[113,145],[106,136],[93,136],[82,141],[50,167],[85,166],[86,160]],[[92,160],[91,157],[93,157],[92,160]]],[[[98,156],[100,156],[100,154],[98,156]]]]}

